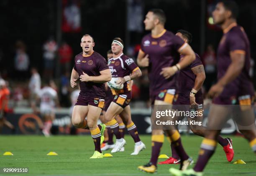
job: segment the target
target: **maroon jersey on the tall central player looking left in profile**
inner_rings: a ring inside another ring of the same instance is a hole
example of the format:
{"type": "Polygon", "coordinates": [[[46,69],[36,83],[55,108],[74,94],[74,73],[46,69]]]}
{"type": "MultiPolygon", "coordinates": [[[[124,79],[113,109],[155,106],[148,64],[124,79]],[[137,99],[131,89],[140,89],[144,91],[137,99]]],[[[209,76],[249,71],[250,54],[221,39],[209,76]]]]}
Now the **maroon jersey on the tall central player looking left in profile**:
{"type": "Polygon", "coordinates": [[[173,66],[179,62],[178,50],[186,45],[187,43],[184,43],[180,37],[167,30],[156,37],[152,36],[151,33],[144,36],[141,42],[141,50],[149,55],[150,94],[165,89],[176,89],[176,75],[165,79],[163,75],[160,75],[160,72],[162,68],[173,66]]]}

